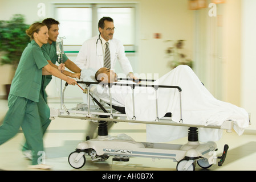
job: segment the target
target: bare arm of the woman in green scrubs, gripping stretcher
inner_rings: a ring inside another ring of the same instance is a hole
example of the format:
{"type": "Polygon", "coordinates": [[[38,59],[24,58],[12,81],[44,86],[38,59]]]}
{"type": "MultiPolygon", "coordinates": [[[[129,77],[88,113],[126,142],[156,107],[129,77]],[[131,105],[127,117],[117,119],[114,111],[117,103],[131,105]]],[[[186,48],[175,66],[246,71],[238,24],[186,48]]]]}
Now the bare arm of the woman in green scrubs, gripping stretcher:
{"type": "Polygon", "coordinates": [[[58,69],[52,67],[50,64],[47,64],[43,67],[43,72],[48,72],[50,75],[53,75],[55,77],[58,77],[64,81],[66,81],[70,85],[75,85],[77,84],[76,80],[73,78],[67,77],[66,75],[62,74],[61,72],[58,71],[58,69]]]}

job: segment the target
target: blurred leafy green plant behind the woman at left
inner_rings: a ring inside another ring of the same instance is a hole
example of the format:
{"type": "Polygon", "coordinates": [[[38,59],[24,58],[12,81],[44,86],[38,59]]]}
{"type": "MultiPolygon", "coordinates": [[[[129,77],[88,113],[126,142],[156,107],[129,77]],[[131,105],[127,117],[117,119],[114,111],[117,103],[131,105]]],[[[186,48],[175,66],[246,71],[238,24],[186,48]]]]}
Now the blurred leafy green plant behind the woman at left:
{"type": "Polygon", "coordinates": [[[30,42],[26,30],[25,18],[21,14],[15,14],[11,20],[0,20],[0,52],[1,65],[11,64],[17,68],[22,52],[30,42]]]}

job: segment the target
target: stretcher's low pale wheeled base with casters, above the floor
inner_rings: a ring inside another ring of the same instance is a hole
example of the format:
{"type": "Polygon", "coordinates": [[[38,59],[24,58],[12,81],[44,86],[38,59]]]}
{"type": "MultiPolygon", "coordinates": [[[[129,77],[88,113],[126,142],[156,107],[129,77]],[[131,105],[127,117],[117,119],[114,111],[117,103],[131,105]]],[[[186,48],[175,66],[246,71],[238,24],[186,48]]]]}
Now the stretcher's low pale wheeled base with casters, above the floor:
{"type": "Polygon", "coordinates": [[[194,171],[196,162],[202,168],[217,164],[216,151],[215,142],[182,145],[96,138],[78,143],[76,150],[68,156],[68,162],[74,168],[82,168],[86,164],[86,155],[90,155],[92,161],[105,161],[109,156],[123,162],[133,157],[172,159],[178,162],[177,171],[194,171]]]}

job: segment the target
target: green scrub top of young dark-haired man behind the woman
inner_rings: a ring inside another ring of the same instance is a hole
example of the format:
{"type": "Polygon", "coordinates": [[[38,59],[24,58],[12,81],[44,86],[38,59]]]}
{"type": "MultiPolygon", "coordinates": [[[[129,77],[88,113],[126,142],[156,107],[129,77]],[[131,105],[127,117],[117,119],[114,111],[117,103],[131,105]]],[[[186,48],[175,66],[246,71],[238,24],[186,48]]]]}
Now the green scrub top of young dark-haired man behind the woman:
{"type": "MultiPolygon", "coordinates": [[[[53,64],[56,64],[56,62],[58,61],[58,55],[57,55],[57,51],[56,51],[56,42],[52,42],[51,44],[49,44],[49,43],[43,44],[41,49],[43,51],[43,55],[46,58],[46,60],[50,60],[53,64]]],[[[68,60],[68,57],[65,54],[62,55],[62,58],[63,58],[63,63],[65,63],[68,60]]],[[[61,60],[59,60],[59,61],[61,61],[61,60]]],[[[43,76],[43,79],[42,79],[42,89],[43,90],[45,90],[46,86],[50,83],[51,78],[52,78],[51,75],[43,76]]]]}

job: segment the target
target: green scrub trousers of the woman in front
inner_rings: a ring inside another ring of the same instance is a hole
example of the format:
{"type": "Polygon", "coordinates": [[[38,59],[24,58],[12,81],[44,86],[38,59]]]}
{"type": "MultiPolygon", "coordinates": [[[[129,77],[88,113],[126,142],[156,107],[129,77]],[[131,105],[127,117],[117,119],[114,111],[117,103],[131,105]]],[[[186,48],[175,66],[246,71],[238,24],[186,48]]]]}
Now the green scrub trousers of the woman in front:
{"type": "Polygon", "coordinates": [[[0,145],[13,138],[22,127],[32,149],[32,165],[38,164],[43,152],[43,133],[36,102],[10,94],[8,107],[3,125],[0,126],[0,145]]]}

